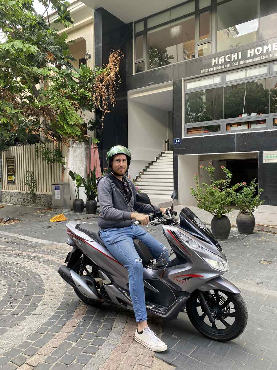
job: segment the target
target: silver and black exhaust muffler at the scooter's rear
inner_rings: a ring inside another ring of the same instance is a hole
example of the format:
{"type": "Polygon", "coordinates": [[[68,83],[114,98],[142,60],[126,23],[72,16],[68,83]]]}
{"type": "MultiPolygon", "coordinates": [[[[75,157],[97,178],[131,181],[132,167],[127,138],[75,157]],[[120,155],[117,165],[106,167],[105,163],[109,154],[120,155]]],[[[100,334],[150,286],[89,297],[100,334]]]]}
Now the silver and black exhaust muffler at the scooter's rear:
{"type": "Polygon", "coordinates": [[[58,269],[59,275],[64,279],[69,285],[78,289],[83,295],[89,299],[99,300],[99,296],[95,287],[95,280],[89,276],[79,276],[71,270],[69,267],[61,266],[58,269]],[[89,285],[88,285],[89,283],[89,285]]]}

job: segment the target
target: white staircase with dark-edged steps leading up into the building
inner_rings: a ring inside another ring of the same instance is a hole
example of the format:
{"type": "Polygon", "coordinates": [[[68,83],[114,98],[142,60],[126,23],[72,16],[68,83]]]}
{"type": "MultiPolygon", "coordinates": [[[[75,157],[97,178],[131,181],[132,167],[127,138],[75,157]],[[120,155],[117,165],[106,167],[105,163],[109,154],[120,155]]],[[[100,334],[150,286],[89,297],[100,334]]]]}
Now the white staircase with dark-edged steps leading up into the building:
{"type": "Polygon", "coordinates": [[[161,152],[136,178],[136,185],[146,193],[153,205],[171,205],[173,192],[173,152],[161,152]]]}

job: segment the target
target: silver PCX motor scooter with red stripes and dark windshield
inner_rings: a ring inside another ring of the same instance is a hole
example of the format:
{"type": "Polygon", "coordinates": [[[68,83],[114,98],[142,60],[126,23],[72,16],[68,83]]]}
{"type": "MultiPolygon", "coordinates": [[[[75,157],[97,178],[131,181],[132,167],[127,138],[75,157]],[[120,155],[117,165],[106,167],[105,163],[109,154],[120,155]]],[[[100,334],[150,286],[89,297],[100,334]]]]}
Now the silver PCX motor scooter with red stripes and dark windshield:
{"type": "MultiPolygon", "coordinates": [[[[144,266],[144,290],[147,314],[175,319],[187,312],[195,328],[210,339],[226,342],[235,339],[247,324],[247,309],[240,290],[222,275],[228,261],[218,240],[189,209],[182,209],[179,221],[172,206],[167,217],[161,212],[149,215],[151,225],[163,225],[170,245],[170,260],[164,253],[157,260],[139,239],[133,239],[144,266]]],[[[137,202],[150,204],[144,193],[137,202]]],[[[138,222],[135,222],[137,225],[138,222]]],[[[128,272],[107,250],[97,225],[87,222],[66,223],[69,236],[65,263],[58,270],[78,297],[88,305],[103,303],[133,310],[128,272]]]]}

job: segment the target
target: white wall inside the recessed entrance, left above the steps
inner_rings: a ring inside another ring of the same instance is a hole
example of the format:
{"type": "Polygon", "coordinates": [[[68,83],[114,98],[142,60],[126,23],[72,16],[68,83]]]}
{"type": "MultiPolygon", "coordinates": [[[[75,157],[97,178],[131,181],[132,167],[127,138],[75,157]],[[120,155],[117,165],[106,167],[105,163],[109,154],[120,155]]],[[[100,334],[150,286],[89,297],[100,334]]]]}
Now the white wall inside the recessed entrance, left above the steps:
{"type": "Polygon", "coordinates": [[[128,98],[128,147],[132,155],[129,175],[132,179],[164,151],[167,122],[166,111],[128,98]]]}

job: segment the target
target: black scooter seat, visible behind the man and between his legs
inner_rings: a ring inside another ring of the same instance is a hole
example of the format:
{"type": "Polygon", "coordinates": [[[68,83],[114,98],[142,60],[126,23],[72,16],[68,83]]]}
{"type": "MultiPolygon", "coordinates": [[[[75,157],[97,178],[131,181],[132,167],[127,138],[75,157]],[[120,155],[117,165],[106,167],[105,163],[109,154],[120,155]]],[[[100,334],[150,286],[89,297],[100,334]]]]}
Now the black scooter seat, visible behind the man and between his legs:
{"type": "MultiPolygon", "coordinates": [[[[103,240],[101,239],[100,228],[98,225],[93,225],[92,223],[81,223],[78,230],[90,236],[90,238],[94,239],[96,242],[105,246],[103,240]]],[[[151,259],[153,259],[150,250],[141,240],[137,238],[134,238],[133,242],[138,255],[142,259],[143,266],[147,265],[147,263],[151,259]]]]}

